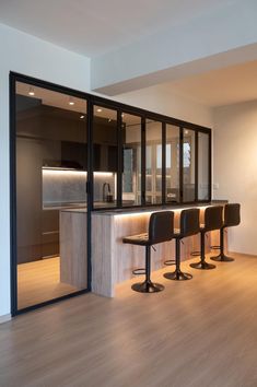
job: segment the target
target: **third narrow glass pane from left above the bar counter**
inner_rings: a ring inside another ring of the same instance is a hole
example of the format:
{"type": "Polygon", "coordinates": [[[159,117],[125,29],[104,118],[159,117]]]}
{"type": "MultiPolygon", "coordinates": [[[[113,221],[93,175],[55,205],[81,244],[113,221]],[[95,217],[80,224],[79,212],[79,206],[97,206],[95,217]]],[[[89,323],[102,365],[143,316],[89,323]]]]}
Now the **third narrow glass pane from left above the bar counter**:
{"type": "Polygon", "coordinates": [[[162,122],[147,121],[145,202],[162,202],[162,122]]]}

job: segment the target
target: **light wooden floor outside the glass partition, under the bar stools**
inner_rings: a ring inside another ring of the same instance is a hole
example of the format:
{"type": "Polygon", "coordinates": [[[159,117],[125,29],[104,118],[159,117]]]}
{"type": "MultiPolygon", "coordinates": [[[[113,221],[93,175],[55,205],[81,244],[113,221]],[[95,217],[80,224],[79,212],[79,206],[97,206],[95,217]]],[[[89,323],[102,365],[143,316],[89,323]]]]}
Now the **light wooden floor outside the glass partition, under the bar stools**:
{"type": "Polygon", "coordinates": [[[2,324],[0,386],[256,387],[257,258],[217,266],[179,283],[159,271],[162,293],[130,281],[116,298],[85,294],[2,324]]]}

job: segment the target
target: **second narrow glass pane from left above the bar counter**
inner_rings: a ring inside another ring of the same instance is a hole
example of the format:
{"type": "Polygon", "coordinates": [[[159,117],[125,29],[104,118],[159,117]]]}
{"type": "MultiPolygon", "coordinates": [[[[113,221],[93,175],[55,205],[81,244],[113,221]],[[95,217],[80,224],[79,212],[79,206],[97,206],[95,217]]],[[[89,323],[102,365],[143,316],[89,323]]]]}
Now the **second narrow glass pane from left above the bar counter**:
{"type": "Polygon", "coordinates": [[[141,118],[122,114],[122,206],[141,204],[141,118]]]}

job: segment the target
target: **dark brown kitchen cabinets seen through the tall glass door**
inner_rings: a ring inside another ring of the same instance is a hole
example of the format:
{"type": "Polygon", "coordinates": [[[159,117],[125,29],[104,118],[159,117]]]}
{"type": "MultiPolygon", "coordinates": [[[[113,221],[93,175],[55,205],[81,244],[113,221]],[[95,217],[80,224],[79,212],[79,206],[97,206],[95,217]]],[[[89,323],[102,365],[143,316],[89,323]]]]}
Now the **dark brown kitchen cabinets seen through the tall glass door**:
{"type": "Polygon", "coordinates": [[[59,211],[43,210],[44,165],[86,167],[86,124],[78,112],[20,96],[16,115],[17,262],[59,254],[59,211]]]}

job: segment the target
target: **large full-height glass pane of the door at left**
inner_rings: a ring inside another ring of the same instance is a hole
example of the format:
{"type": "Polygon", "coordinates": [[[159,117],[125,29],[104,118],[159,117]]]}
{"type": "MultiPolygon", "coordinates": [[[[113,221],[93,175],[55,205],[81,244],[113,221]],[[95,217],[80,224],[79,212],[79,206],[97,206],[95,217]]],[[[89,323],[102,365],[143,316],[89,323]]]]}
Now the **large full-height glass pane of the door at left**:
{"type": "Polygon", "coordinates": [[[21,309],[87,288],[86,242],[78,251],[70,232],[83,212],[86,234],[86,101],[17,82],[15,102],[21,309]]]}

